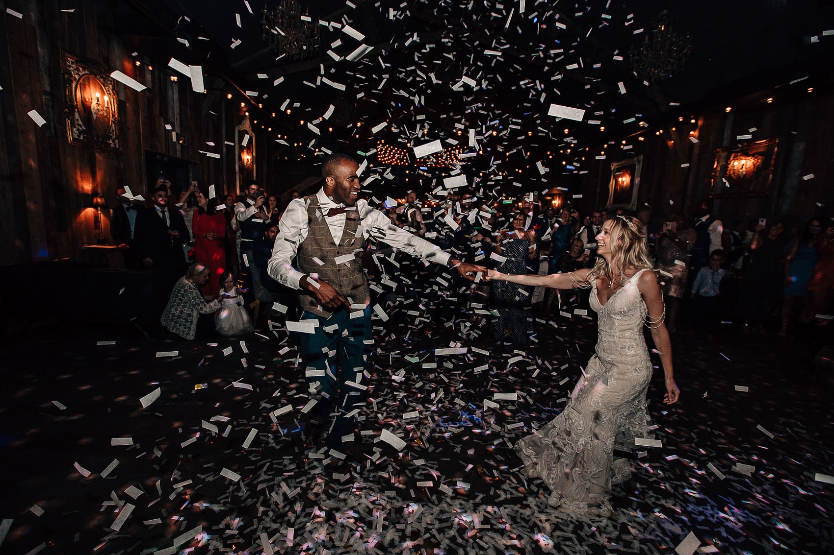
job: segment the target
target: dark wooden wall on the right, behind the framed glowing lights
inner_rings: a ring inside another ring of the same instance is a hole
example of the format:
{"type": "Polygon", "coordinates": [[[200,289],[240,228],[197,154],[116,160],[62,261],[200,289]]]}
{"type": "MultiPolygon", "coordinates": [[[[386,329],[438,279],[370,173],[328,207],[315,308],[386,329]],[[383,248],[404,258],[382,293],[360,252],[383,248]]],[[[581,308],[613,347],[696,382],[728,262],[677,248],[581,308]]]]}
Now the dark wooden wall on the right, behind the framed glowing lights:
{"type": "Polygon", "coordinates": [[[765,197],[716,199],[714,213],[726,223],[736,218],[796,221],[813,214],[834,216],[834,91],[783,95],[772,103],[761,100],[731,113],[706,112],[692,117],[697,125],[685,117],[684,122],[668,123],[661,135],[655,134],[655,128],[643,133],[644,141],[627,138],[626,143],[633,145],[627,151],[615,141],[605,149],[605,160],[595,159],[595,154],[603,150],[602,143],[583,151],[583,169],[588,172],[580,175],[581,209],[588,213],[605,206],[611,162],[642,155],[638,206],[648,203],[658,218],[668,218],[678,210],[691,215],[698,199],[711,194],[716,150],[739,143],[739,135],[752,133],[754,140],[780,140],[771,193],[765,197]],[[696,128],[697,144],[688,139],[691,128],[696,128]],[[689,167],[681,168],[684,163],[689,167]],[[811,173],[813,178],[802,178],[811,173]]]}

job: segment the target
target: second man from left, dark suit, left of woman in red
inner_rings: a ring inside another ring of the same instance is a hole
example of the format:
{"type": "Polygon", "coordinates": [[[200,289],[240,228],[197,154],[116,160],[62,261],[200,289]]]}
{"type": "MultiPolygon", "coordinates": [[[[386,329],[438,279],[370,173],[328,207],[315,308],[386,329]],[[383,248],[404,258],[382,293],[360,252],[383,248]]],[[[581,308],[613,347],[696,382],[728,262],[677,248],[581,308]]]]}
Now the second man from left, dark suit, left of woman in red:
{"type": "Polygon", "coordinates": [[[145,268],[159,268],[185,263],[183,243],[191,236],[183,214],[168,208],[168,190],[153,191],[153,206],[136,216],[133,242],[138,259],[145,268]]]}

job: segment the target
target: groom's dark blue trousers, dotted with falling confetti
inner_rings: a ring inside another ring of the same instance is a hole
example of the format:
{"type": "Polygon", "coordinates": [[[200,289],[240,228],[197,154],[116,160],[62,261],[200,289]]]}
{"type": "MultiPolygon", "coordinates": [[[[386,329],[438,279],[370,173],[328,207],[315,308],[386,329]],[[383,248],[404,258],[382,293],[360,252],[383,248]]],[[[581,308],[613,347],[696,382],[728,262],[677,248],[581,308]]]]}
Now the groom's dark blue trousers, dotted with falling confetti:
{"type": "Polygon", "coordinates": [[[304,311],[302,320],[318,320],[315,333],[302,333],[301,358],[306,368],[324,371],[324,376],[309,376],[307,383],[321,395],[317,404],[319,416],[326,422],[335,407],[338,414],[327,434],[329,446],[340,446],[341,438],[353,432],[354,408],[364,403],[364,371],[371,336],[370,307],[358,318],[339,310],[330,318],[304,311]],[[347,332],[347,333],[345,333],[347,332]]]}

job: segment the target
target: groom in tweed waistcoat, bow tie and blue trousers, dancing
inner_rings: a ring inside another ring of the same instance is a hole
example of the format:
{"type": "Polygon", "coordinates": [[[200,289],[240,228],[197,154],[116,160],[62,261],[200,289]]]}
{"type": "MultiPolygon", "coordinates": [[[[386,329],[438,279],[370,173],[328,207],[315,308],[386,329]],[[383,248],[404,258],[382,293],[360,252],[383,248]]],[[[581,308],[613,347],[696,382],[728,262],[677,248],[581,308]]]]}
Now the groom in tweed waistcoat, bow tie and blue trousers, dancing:
{"type": "Polygon", "coordinates": [[[474,264],[461,263],[439,247],[394,226],[384,213],[359,200],[359,165],[345,154],[324,159],[324,186],[318,193],[296,198],[279,223],[269,275],[299,290],[302,321],[312,333],[301,333],[301,357],[307,366],[310,392],[317,395],[318,413],[308,423],[308,439],[317,439],[335,408],[336,418],[325,444],[341,450],[352,438],[354,417],[364,404],[365,365],[373,343],[368,279],[356,253],[373,235],[391,247],[445,266],[467,279],[474,264]],[[292,260],[298,255],[298,269],[292,260]],[[336,359],[338,358],[338,366],[336,359]]]}

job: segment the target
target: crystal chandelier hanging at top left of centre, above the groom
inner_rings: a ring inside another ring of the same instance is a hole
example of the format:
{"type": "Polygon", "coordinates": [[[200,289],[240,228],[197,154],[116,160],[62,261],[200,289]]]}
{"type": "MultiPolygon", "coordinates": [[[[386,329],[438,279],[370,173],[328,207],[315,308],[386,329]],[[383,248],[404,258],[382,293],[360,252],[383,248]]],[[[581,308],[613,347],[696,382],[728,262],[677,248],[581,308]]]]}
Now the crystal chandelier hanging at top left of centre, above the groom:
{"type": "Polygon", "coordinates": [[[264,42],[285,62],[319,55],[319,25],[311,21],[299,0],[278,0],[261,13],[264,42]]]}

